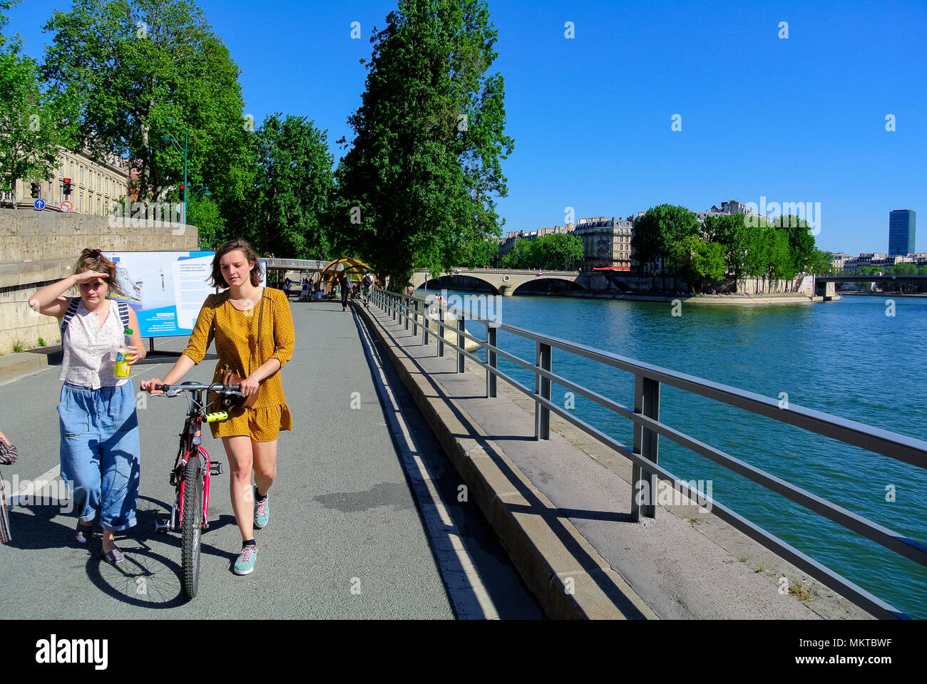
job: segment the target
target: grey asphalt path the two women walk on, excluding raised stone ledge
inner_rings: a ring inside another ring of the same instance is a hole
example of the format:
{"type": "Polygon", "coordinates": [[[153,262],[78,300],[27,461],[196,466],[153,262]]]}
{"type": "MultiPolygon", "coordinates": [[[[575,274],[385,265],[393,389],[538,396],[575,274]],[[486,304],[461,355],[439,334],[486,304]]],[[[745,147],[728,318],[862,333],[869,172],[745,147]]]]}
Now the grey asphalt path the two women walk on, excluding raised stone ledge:
{"type": "MultiPolygon", "coordinates": [[[[0,430],[19,462],[2,468],[13,541],[0,546],[0,617],[150,618],[537,618],[495,538],[461,500],[460,478],[362,319],[340,302],[292,302],[297,346],[283,369],[293,432],[281,433],[271,520],[255,531],[255,571],[235,576],[241,538],[228,475],[214,476],[210,527],[202,537],[199,593],[180,588],[180,536],[156,534],[171,507],[168,482],[184,424],[183,398],[139,394],[142,476],[138,525],[117,543],[113,566],[72,540],[57,477],[59,367],[0,386],[0,430]],[[51,484],[37,489],[35,480],[51,484]]],[[[185,338],[158,340],[180,351],[185,338]]],[[[133,386],[164,377],[174,359],[151,356],[133,386]]],[[[209,382],[210,354],[184,380],[209,382]]],[[[203,445],[226,463],[222,442],[203,445]]],[[[465,497],[464,497],[465,499],[465,497]]]]}

